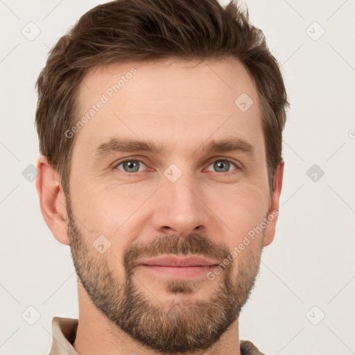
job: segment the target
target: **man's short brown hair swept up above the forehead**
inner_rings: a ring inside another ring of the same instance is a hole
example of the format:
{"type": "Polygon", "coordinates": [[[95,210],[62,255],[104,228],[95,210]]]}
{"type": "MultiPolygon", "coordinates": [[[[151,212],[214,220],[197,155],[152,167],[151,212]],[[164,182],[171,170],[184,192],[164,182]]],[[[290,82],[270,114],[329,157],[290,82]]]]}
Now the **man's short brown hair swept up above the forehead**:
{"type": "Polygon", "coordinates": [[[78,121],[78,86],[96,66],[130,61],[240,60],[259,93],[266,142],[270,193],[282,161],[282,131],[288,100],[279,64],[259,28],[234,3],[217,0],[116,0],[86,12],[51,49],[37,79],[35,124],[40,153],[58,170],[69,193],[75,136],[65,137],[78,121]]]}

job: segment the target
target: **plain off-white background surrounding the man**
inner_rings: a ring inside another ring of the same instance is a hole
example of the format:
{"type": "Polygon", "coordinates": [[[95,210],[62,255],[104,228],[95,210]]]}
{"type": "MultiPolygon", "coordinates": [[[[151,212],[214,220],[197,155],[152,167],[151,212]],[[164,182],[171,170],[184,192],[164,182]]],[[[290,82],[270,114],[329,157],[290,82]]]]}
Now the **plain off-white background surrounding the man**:
{"type": "MultiPolygon", "coordinates": [[[[69,246],[54,239],[22,172],[39,156],[34,85],[49,48],[96,3],[0,1],[0,354],[48,354],[53,316],[78,318],[69,246]],[[32,41],[21,33],[30,21],[40,28],[32,41]],[[21,318],[29,306],[40,313],[33,325],[21,318]]],[[[246,4],[282,64],[291,110],[277,234],[240,337],[266,354],[355,354],[355,2],[246,4]],[[324,171],[316,182],[313,164],[324,171]]]]}

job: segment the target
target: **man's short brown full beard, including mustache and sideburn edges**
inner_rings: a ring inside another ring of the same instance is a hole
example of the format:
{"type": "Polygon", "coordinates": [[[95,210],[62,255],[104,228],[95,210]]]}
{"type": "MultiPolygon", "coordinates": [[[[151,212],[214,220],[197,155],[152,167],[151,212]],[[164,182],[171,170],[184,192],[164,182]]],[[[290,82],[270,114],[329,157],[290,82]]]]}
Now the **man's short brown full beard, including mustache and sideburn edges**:
{"type": "Polygon", "coordinates": [[[71,257],[87,295],[112,324],[141,345],[162,354],[204,351],[218,342],[239,318],[259,272],[263,236],[254,239],[254,248],[245,248],[236,257],[236,276],[232,276],[235,263],[232,259],[213,282],[209,279],[168,279],[164,281],[166,293],[176,295],[177,301],[155,302],[155,295],[144,291],[148,288],[135,276],[139,259],[159,254],[198,254],[222,262],[230,255],[227,246],[198,233],[183,238],[168,234],[157,236],[146,245],[141,241],[132,243],[125,250],[123,261],[114,254],[109,260],[110,252],[100,254],[93,247],[92,238],[76,225],[70,198],[67,199],[67,213],[71,257]],[[123,265],[123,284],[117,281],[109,261],[111,265],[123,265]],[[209,300],[191,300],[206,282],[211,283],[209,290],[214,290],[209,300]],[[191,295],[189,299],[187,295],[191,295]]]}

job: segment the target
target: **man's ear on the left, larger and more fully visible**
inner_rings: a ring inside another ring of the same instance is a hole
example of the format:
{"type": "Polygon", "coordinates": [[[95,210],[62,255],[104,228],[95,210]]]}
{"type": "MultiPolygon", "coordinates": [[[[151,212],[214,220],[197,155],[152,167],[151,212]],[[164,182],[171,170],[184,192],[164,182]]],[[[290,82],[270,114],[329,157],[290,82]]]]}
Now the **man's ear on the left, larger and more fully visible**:
{"type": "Polygon", "coordinates": [[[64,191],[60,184],[58,171],[52,168],[43,155],[37,161],[38,175],[36,189],[40,197],[40,207],[46,225],[53,233],[55,239],[64,245],[70,245],[67,234],[67,207],[64,191]]]}

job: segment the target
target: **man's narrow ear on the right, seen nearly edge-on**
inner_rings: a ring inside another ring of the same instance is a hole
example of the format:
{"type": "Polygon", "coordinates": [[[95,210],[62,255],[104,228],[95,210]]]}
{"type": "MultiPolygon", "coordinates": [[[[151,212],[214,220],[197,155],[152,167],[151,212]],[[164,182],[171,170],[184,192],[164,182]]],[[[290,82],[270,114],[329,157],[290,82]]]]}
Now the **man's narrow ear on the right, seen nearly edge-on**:
{"type": "Polygon", "coordinates": [[[279,198],[282,189],[282,180],[284,178],[284,158],[281,159],[281,163],[277,167],[274,175],[274,184],[273,184],[273,192],[270,197],[269,203],[269,216],[268,223],[265,228],[265,236],[263,239],[263,246],[266,247],[269,245],[275,238],[276,232],[276,223],[277,218],[279,217],[279,198]]]}

